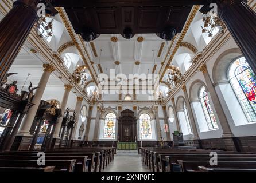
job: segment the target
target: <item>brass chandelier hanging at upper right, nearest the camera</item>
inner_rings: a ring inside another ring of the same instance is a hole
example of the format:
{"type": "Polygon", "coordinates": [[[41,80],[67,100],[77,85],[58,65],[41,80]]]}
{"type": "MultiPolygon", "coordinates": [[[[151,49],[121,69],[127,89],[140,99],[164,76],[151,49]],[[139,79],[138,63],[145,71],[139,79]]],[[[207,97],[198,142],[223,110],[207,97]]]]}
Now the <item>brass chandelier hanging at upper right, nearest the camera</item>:
{"type": "Polygon", "coordinates": [[[226,29],[224,22],[216,14],[210,12],[203,13],[204,26],[201,26],[202,33],[208,34],[209,37],[214,37],[215,34],[222,34],[226,29]],[[214,33],[218,31],[218,33],[214,33]]]}

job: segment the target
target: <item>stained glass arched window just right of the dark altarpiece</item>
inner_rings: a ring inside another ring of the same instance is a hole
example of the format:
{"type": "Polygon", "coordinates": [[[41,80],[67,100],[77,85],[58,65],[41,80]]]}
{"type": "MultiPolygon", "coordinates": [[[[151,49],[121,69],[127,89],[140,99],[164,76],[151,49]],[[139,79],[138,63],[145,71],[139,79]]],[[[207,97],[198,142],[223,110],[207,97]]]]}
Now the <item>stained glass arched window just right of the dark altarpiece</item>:
{"type": "Polygon", "coordinates": [[[141,114],[139,117],[139,133],[141,139],[152,139],[152,126],[149,114],[141,114]]]}

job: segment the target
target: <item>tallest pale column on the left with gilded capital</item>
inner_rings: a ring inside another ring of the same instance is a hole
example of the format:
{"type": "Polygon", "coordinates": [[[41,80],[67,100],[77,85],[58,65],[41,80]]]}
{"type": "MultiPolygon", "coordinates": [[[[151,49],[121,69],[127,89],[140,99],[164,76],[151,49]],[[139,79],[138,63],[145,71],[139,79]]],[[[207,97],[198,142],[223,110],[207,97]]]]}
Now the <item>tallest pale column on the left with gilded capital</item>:
{"type": "Polygon", "coordinates": [[[40,82],[37,85],[38,89],[36,89],[36,92],[34,93],[34,98],[32,101],[32,103],[34,103],[34,105],[32,106],[32,108],[29,109],[29,113],[26,114],[26,116],[22,120],[20,129],[18,130],[19,134],[24,134],[25,136],[30,136],[29,130],[34,121],[34,117],[36,116],[38,106],[42,99],[42,94],[44,94],[44,90],[45,90],[45,87],[47,85],[47,82],[49,80],[51,73],[55,70],[55,67],[53,67],[50,64],[44,64],[43,67],[44,67],[44,73],[42,73],[40,82]]]}

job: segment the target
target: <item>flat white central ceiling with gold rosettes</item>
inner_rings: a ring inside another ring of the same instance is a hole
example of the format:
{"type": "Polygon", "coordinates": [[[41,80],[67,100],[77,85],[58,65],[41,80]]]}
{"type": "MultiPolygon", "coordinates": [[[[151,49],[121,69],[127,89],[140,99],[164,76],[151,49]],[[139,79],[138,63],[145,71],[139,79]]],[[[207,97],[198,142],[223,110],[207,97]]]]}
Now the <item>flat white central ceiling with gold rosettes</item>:
{"type": "Polygon", "coordinates": [[[100,63],[103,73],[106,73],[107,69],[107,74],[109,74],[110,69],[114,69],[115,74],[123,73],[127,77],[128,74],[148,74],[148,69],[149,73],[152,73],[154,68],[152,50],[154,50],[154,58],[157,65],[156,73],[158,73],[161,62],[168,50],[166,42],[158,38],[156,34],[136,34],[131,39],[125,39],[119,34],[104,34],[95,39],[93,44],[96,54],[91,44],[88,44],[87,48],[89,47],[88,50],[91,52],[90,55],[92,55],[96,72],[98,72],[98,64],[100,63]],[[117,42],[111,41],[112,37],[116,37],[117,42]],[[138,42],[138,37],[143,37],[144,40],[138,42]],[[162,47],[160,57],[158,57],[162,43],[164,43],[164,47],[162,47]],[[102,50],[101,59],[99,59],[100,50],[102,50]],[[140,64],[136,65],[135,62],[139,62],[140,64]]]}

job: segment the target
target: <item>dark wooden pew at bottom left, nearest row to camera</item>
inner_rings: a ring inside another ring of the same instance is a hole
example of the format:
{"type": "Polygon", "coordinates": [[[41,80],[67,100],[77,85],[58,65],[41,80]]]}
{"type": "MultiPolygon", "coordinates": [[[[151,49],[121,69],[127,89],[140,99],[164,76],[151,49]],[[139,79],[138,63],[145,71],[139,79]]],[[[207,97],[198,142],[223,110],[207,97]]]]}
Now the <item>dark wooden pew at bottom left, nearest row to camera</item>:
{"type": "Polygon", "coordinates": [[[53,172],[55,166],[46,166],[44,168],[32,167],[0,167],[0,172],[53,172]]]}

